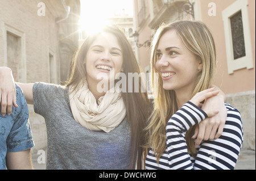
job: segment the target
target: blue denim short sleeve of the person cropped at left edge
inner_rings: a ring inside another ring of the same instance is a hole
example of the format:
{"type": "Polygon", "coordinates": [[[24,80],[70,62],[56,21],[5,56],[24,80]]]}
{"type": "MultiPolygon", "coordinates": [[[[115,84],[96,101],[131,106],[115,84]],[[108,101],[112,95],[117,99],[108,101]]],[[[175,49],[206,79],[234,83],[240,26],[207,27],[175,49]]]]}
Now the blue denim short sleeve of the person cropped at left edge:
{"type": "Polygon", "coordinates": [[[8,152],[24,151],[34,146],[32,132],[28,121],[28,107],[22,90],[16,86],[16,101],[18,108],[13,110],[13,127],[7,137],[8,152]]]}

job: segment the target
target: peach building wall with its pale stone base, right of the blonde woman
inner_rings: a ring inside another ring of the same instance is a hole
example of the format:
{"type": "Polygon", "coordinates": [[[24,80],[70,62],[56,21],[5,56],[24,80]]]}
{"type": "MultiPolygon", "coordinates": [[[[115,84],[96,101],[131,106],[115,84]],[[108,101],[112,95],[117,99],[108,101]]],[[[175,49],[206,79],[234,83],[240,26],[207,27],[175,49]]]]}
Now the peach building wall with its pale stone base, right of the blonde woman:
{"type": "MultiPolygon", "coordinates": [[[[251,53],[253,66],[250,69],[242,68],[228,72],[227,48],[228,44],[224,28],[224,17],[222,12],[228,7],[238,3],[236,0],[200,0],[201,20],[207,24],[213,33],[216,41],[216,51],[218,56],[218,69],[216,76],[216,85],[226,93],[227,102],[240,110],[243,120],[244,139],[243,148],[255,150],[255,1],[249,0],[247,9],[247,19],[249,22],[249,32],[243,30],[250,35],[249,46],[253,50],[251,53]],[[209,3],[214,2],[216,6],[216,14],[209,16],[209,3]]],[[[246,3],[246,1],[241,1],[246,3]]],[[[233,8],[233,6],[232,6],[233,8]]],[[[235,11],[234,11],[235,12],[235,11]]],[[[245,22],[243,21],[243,26],[245,22]]],[[[230,35],[231,36],[231,35],[230,35]]],[[[245,63],[244,63],[245,64],[245,63]]]]}

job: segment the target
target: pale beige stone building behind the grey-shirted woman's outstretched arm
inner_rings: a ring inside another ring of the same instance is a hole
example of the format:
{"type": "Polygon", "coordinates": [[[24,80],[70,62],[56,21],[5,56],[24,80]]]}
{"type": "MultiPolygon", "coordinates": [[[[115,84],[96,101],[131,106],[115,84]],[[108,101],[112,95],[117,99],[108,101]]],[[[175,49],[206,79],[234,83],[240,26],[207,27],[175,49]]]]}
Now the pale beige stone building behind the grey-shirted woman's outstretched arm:
{"type": "MultiPolygon", "coordinates": [[[[0,66],[10,67],[16,82],[64,82],[79,17],[79,0],[0,0],[0,66]]],[[[47,146],[46,125],[28,107],[36,153],[47,146]]]]}

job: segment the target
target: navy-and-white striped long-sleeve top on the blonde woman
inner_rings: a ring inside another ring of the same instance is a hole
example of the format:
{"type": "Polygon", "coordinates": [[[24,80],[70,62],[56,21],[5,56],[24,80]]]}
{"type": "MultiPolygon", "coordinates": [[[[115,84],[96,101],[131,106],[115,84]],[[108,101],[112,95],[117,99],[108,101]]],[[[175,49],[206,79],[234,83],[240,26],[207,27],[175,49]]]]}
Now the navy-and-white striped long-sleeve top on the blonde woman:
{"type": "Polygon", "coordinates": [[[152,149],[146,157],[146,169],[234,169],[243,142],[240,112],[225,104],[228,116],[221,136],[203,141],[197,147],[196,158],[188,154],[185,132],[207,118],[207,114],[191,102],[187,102],[167,123],[167,149],[159,164],[152,149]]]}

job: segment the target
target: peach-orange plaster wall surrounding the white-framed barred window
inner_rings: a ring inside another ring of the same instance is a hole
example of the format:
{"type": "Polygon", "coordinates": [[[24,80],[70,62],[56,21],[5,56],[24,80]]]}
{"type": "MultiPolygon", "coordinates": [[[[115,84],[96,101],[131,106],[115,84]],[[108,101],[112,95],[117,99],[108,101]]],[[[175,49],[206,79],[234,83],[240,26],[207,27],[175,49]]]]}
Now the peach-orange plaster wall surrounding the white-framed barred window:
{"type": "Polygon", "coordinates": [[[255,90],[255,1],[249,0],[248,13],[251,33],[251,46],[253,50],[253,69],[240,69],[228,74],[228,65],[226,62],[226,47],[224,36],[224,23],[222,20],[222,11],[236,0],[201,0],[202,20],[213,33],[218,58],[218,70],[216,75],[216,85],[221,88],[225,94],[233,94],[243,91],[255,90]],[[209,16],[208,4],[216,3],[216,16],[209,16]]]}

